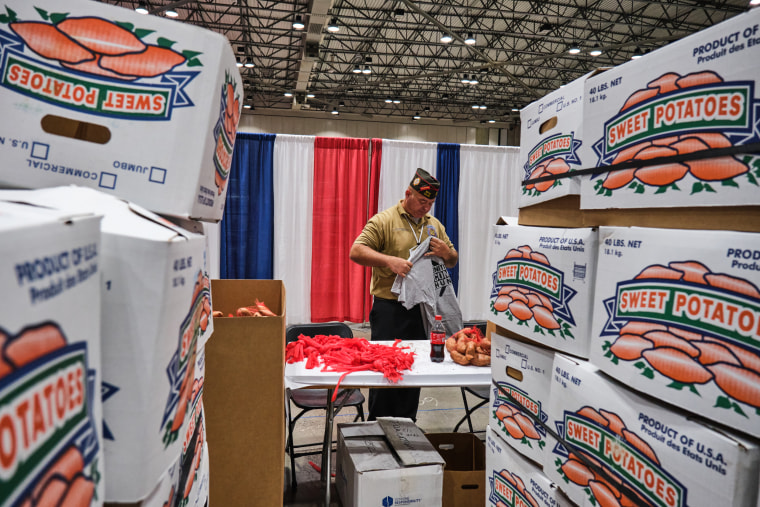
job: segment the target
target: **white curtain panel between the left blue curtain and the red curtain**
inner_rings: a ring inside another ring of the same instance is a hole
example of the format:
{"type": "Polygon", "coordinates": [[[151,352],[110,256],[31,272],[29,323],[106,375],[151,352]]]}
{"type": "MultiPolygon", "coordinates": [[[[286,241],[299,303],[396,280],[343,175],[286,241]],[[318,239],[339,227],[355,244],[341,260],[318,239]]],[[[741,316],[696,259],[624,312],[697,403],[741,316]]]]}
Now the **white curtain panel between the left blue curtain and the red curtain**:
{"type": "Polygon", "coordinates": [[[311,321],[314,136],[274,143],[274,279],[285,285],[286,325],[311,321]]]}

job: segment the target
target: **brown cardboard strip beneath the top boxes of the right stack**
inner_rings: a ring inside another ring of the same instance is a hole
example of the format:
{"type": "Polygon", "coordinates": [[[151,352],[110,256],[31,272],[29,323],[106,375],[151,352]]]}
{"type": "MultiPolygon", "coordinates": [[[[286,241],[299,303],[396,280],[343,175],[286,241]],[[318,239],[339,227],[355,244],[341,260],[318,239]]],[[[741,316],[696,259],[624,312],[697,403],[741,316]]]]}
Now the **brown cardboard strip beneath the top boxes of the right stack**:
{"type": "Polygon", "coordinates": [[[659,227],[760,232],[760,206],[582,210],[571,195],[520,209],[520,225],[659,227]]]}

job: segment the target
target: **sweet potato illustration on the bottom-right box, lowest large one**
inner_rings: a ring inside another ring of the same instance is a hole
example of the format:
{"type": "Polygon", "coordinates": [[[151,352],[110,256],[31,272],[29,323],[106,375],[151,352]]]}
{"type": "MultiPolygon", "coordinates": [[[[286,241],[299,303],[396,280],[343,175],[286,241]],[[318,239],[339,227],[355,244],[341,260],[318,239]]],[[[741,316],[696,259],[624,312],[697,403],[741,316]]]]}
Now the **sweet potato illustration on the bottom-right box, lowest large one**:
{"type": "Polygon", "coordinates": [[[654,450],[614,412],[583,406],[565,412],[565,446],[554,460],[566,484],[583,488],[591,505],[683,506],[684,486],[660,466],[654,450]]]}

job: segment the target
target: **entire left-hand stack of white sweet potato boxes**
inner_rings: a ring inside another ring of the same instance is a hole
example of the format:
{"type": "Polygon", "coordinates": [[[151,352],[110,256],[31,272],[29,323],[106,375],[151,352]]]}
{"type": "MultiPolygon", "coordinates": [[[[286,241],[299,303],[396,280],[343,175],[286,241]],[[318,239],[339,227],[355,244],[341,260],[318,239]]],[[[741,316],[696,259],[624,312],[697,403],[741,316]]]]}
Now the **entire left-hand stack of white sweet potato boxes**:
{"type": "Polygon", "coordinates": [[[203,506],[200,222],[222,218],[241,112],[229,43],[10,0],[0,52],[3,505],[203,506]]]}

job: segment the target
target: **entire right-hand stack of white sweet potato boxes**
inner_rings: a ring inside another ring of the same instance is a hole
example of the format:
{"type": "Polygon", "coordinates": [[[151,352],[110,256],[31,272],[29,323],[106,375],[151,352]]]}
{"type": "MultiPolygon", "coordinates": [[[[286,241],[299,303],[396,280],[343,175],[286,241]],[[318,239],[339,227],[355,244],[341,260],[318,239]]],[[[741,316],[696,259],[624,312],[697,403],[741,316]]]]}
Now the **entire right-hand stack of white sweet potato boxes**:
{"type": "Polygon", "coordinates": [[[488,505],[760,501],[758,27],[756,9],[523,110],[524,179],[559,178],[493,226],[488,505]]]}

